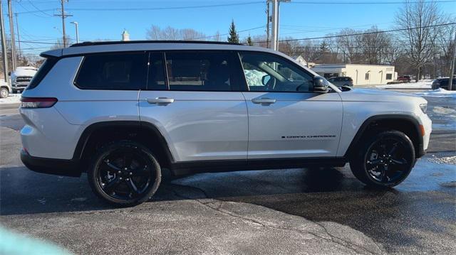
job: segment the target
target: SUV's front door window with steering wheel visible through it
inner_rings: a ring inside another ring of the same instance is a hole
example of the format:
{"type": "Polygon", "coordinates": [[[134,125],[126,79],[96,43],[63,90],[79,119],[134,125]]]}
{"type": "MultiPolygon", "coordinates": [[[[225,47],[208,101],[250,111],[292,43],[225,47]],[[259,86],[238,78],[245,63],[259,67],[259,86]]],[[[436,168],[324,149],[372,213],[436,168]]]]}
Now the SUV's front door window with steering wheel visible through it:
{"type": "Polygon", "coordinates": [[[240,53],[250,91],[310,92],[312,77],[290,61],[266,53],[240,53]]]}

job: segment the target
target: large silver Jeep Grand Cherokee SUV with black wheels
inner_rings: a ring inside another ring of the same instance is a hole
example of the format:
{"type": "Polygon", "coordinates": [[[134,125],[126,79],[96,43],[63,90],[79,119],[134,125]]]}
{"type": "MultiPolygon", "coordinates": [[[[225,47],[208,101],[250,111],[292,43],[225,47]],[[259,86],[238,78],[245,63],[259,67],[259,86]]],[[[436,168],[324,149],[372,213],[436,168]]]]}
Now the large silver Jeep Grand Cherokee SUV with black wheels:
{"type": "Polygon", "coordinates": [[[41,173],[86,172],[95,194],[115,205],[147,201],[163,168],[183,175],[350,163],[366,185],[393,187],[429,143],[423,97],[342,92],[266,48],[98,42],[41,56],[21,97],[21,160],[41,173]]]}

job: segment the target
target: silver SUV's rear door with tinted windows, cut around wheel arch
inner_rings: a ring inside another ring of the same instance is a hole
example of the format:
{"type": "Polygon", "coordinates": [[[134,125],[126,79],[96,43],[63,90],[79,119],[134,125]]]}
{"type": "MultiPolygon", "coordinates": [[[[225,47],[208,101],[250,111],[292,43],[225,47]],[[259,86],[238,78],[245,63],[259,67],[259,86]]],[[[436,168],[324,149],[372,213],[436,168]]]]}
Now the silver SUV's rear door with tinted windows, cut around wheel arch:
{"type": "Polygon", "coordinates": [[[150,53],[140,120],[159,129],[175,161],[247,158],[247,106],[234,68],[239,59],[221,50],[150,53]]]}

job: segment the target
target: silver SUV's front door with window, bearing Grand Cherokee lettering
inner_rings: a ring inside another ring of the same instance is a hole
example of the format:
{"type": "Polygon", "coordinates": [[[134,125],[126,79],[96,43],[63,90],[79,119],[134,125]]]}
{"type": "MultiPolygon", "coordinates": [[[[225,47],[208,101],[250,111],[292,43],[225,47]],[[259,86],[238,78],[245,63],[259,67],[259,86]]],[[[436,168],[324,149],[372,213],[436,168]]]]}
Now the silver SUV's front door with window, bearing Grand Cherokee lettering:
{"type": "Polygon", "coordinates": [[[342,124],[337,92],[312,92],[313,76],[271,53],[239,53],[248,91],[248,158],[336,156],[342,124]]]}

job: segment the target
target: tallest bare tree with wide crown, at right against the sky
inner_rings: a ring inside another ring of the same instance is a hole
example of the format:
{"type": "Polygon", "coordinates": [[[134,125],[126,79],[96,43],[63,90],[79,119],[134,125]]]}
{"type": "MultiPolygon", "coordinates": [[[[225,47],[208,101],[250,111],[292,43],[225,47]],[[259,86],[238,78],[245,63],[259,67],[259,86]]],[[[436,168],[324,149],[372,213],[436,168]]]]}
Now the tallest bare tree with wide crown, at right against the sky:
{"type": "Polygon", "coordinates": [[[437,4],[425,0],[407,0],[396,13],[398,28],[406,29],[400,36],[411,64],[415,67],[417,81],[420,80],[425,63],[432,59],[432,50],[438,34],[438,28],[432,26],[440,23],[441,16],[437,4]]]}

